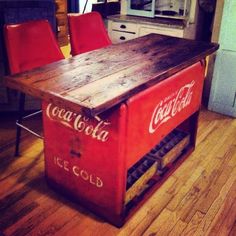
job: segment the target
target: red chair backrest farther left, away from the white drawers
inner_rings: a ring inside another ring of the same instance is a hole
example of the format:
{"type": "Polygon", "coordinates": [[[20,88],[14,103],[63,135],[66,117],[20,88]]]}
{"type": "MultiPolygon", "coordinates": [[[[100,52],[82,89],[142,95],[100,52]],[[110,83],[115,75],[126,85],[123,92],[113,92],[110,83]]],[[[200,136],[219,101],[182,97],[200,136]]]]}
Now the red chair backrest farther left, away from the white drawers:
{"type": "Polygon", "coordinates": [[[11,74],[64,58],[47,20],[5,25],[4,38],[11,74]]]}

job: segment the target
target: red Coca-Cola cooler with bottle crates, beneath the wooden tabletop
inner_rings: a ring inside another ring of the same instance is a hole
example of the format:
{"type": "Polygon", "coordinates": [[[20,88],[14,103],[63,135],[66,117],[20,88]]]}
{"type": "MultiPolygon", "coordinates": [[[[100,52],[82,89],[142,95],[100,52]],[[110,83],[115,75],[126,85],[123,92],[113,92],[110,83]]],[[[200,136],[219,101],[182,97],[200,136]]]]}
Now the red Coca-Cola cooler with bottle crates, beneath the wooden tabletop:
{"type": "Polygon", "coordinates": [[[193,151],[203,80],[198,62],[95,117],[44,101],[49,184],[123,225],[193,151]]]}

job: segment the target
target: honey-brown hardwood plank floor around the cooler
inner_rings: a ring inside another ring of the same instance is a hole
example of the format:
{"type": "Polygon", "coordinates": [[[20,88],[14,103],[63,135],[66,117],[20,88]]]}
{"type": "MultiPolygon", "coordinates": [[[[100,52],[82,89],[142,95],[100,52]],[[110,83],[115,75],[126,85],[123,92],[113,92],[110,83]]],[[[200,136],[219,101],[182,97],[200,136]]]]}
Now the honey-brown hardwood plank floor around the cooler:
{"type": "Polygon", "coordinates": [[[203,110],[194,153],[120,229],[47,186],[41,140],[15,158],[13,130],[1,122],[0,235],[236,235],[236,119],[203,110]]]}

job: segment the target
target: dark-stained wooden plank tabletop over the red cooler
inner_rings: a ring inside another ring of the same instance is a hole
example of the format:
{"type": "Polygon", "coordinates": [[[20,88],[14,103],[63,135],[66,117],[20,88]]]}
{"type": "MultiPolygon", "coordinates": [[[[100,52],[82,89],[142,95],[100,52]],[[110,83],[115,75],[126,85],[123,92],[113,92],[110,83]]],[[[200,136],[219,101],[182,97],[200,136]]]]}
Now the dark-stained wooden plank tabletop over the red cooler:
{"type": "Polygon", "coordinates": [[[5,83],[96,116],[217,49],[217,44],[149,34],[5,77],[5,83]]]}

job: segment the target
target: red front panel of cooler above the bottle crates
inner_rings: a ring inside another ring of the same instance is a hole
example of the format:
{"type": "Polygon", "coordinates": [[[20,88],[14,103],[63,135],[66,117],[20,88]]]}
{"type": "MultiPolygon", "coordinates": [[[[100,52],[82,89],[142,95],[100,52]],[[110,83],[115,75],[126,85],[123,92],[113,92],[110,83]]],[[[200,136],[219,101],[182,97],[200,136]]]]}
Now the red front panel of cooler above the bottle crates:
{"type": "Polygon", "coordinates": [[[127,169],[199,109],[203,80],[197,63],[127,101],[127,169]]]}

